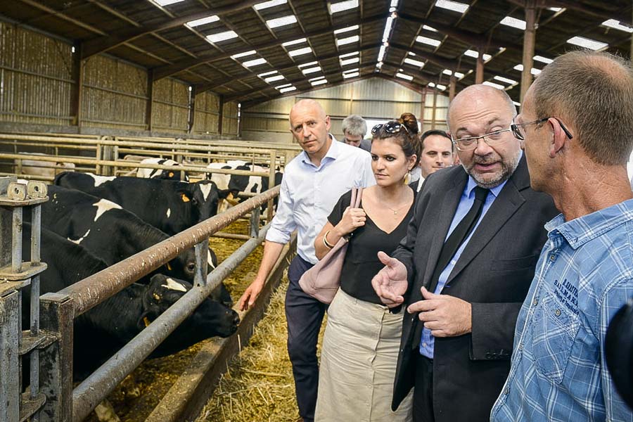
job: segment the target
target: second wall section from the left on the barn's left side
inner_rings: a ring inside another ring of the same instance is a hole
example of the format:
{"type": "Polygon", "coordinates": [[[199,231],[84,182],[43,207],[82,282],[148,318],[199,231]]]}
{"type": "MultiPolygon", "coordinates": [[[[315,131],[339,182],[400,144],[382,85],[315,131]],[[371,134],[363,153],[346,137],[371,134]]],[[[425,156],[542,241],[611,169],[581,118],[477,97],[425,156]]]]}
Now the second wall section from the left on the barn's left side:
{"type": "Polygon", "coordinates": [[[147,71],[109,56],[84,62],[81,124],[146,129],[147,71]]]}

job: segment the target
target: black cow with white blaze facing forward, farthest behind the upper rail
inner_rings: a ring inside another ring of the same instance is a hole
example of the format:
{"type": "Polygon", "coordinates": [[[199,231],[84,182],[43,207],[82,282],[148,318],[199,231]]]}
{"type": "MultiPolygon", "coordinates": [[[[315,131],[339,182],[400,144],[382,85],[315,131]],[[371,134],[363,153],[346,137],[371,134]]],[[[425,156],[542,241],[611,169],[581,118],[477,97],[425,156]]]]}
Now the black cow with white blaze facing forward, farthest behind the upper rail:
{"type": "Polygon", "coordinates": [[[77,172],[59,174],[54,184],[111,200],[170,235],[216,215],[222,194],[209,180],[190,184],[77,172]]]}

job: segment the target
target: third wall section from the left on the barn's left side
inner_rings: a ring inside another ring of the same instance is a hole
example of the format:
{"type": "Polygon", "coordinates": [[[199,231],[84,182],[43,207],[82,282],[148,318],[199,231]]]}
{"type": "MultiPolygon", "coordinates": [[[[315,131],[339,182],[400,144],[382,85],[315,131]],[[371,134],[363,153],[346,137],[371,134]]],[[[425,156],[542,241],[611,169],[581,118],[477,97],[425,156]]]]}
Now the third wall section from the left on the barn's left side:
{"type": "Polygon", "coordinates": [[[189,86],[176,79],[154,82],[152,129],[187,132],[189,116],[189,86]]]}

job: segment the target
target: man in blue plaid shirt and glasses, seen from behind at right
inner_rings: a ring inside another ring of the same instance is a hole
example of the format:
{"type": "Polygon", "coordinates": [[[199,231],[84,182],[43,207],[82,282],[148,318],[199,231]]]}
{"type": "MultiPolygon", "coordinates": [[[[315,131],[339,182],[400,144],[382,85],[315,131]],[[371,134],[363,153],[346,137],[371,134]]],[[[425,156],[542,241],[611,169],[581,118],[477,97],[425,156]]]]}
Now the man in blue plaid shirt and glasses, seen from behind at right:
{"type": "Polygon", "coordinates": [[[511,128],[532,188],[562,214],[546,224],[491,420],[633,421],[604,353],[609,321],[633,295],[630,63],[594,51],[556,58],[511,128]]]}

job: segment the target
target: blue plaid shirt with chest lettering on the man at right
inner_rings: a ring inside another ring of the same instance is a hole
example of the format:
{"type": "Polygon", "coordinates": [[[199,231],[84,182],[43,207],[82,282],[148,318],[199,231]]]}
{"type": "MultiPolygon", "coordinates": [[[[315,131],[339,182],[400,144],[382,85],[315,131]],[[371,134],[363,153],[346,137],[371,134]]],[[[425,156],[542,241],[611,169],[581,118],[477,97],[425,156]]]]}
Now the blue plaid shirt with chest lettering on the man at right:
{"type": "Polygon", "coordinates": [[[609,321],[633,295],[633,199],[545,224],[491,420],[633,421],[606,367],[609,321]]]}

